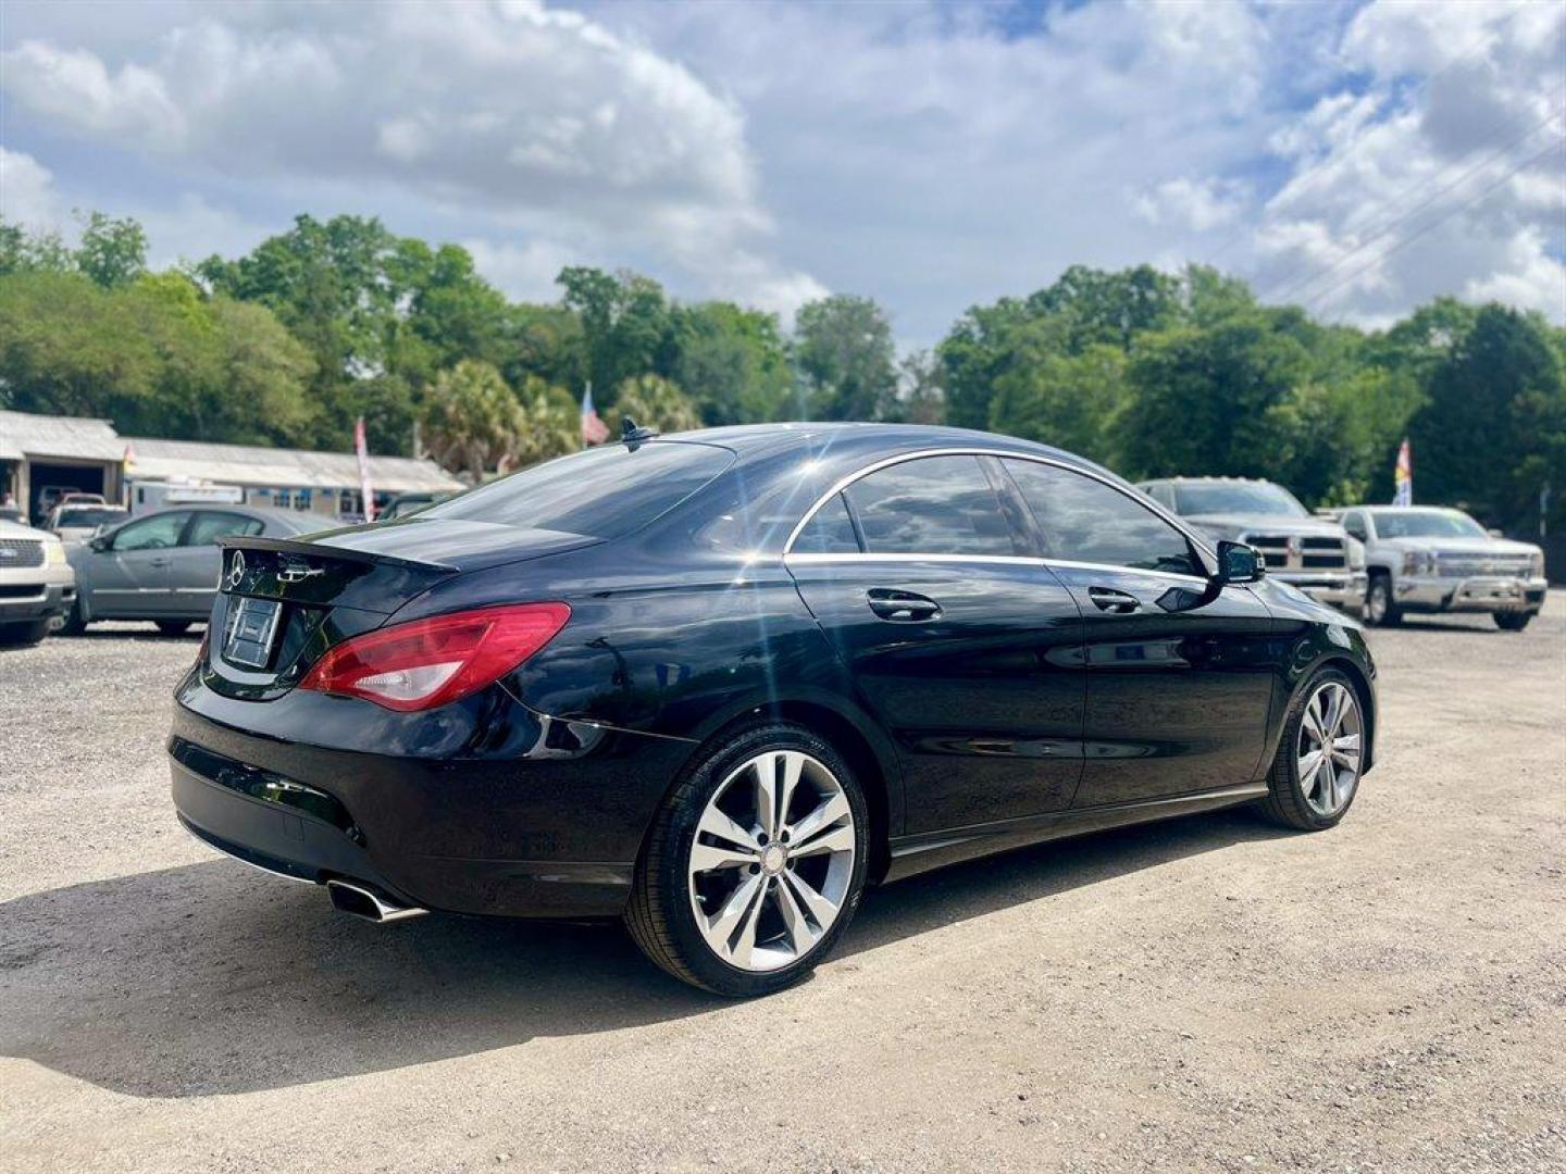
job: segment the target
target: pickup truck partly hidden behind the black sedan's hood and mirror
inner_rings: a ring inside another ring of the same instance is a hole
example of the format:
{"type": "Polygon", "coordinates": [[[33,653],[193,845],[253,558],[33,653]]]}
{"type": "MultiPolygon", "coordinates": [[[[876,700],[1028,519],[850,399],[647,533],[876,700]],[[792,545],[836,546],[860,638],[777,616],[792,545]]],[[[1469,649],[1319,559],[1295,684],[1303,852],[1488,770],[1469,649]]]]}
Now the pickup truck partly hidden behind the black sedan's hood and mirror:
{"type": "Polygon", "coordinates": [[[1364,549],[1342,524],[1315,518],[1283,485],[1250,477],[1168,477],[1142,492],[1211,538],[1254,546],[1267,573],[1312,600],[1358,614],[1364,607],[1364,549]]]}

